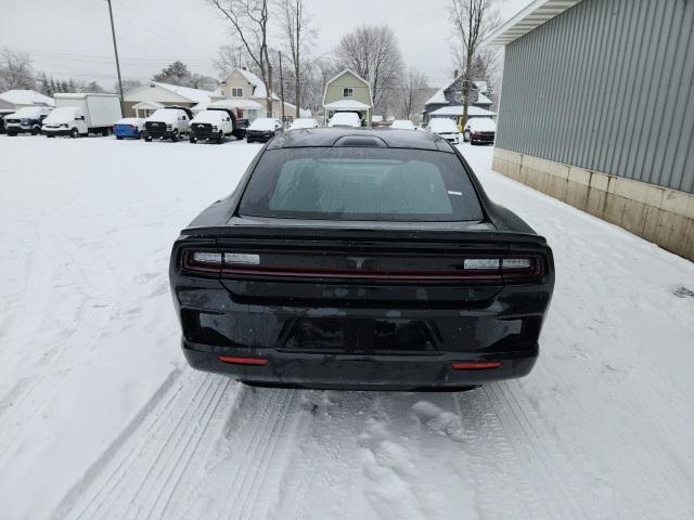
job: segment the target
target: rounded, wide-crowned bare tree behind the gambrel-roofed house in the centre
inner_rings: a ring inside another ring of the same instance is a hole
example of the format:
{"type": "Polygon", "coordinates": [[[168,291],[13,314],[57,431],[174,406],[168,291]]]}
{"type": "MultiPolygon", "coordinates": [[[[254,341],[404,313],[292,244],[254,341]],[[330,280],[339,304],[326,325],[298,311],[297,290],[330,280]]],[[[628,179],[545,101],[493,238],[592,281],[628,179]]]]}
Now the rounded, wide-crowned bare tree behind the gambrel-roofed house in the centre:
{"type": "Polygon", "coordinates": [[[389,105],[402,74],[402,56],[395,32],[387,25],[361,25],[339,40],[335,50],[340,65],[371,83],[374,105],[389,105]],[[391,98],[391,95],[390,95],[391,98]]]}

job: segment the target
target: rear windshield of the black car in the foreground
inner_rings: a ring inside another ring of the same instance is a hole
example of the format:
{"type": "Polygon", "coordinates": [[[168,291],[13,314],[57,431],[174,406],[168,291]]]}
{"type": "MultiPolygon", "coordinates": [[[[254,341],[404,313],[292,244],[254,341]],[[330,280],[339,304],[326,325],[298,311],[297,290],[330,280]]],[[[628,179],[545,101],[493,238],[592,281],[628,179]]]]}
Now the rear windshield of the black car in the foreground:
{"type": "Polygon", "coordinates": [[[397,148],[268,150],[241,199],[248,217],[321,220],[481,220],[458,156],[397,148]]]}

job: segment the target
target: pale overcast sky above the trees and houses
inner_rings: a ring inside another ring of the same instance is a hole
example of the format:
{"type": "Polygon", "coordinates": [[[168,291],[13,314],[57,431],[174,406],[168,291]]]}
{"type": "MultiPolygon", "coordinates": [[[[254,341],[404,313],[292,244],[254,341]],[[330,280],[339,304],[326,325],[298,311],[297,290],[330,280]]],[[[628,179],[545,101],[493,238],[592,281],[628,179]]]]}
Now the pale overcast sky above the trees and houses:
{"type": "MultiPolygon", "coordinates": [[[[149,79],[174,60],[217,76],[211,60],[230,41],[205,0],[112,0],[124,78],[149,79]]],[[[509,18],[530,0],[497,0],[509,18]]],[[[387,23],[408,65],[433,86],[450,76],[448,0],[306,0],[318,38],[312,54],[334,49],[362,23],[387,23]]],[[[0,0],[0,47],[30,54],[34,68],[60,78],[115,82],[105,0],[0,0]]]]}

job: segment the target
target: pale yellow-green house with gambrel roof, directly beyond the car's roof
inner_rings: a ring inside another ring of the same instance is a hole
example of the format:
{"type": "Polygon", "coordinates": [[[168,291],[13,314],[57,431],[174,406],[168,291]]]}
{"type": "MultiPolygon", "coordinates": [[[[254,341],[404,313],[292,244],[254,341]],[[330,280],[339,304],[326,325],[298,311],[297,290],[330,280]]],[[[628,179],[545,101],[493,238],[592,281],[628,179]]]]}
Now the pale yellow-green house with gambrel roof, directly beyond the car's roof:
{"type": "Polygon", "coordinates": [[[323,110],[325,123],[338,112],[354,112],[359,115],[364,125],[370,126],[373,96],[369,81],[346,68],[325,83],[323,110]]]}

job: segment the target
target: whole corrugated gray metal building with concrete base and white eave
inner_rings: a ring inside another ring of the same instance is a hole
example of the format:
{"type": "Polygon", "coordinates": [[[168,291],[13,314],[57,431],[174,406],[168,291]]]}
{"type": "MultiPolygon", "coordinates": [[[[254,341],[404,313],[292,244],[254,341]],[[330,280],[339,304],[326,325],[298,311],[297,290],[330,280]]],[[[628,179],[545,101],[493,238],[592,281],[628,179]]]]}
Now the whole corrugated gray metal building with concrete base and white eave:
{"type": "Polygon", "coordinates": [[[694,260],[694,1],[537,0],[504,46],[493,168],[694,260]]]}

